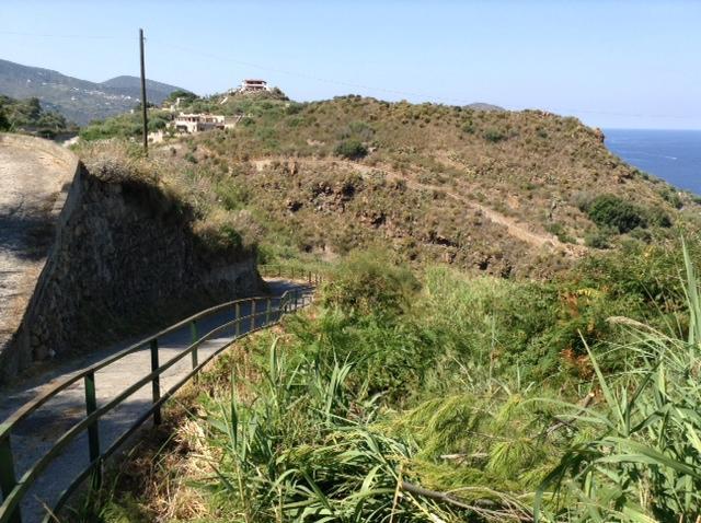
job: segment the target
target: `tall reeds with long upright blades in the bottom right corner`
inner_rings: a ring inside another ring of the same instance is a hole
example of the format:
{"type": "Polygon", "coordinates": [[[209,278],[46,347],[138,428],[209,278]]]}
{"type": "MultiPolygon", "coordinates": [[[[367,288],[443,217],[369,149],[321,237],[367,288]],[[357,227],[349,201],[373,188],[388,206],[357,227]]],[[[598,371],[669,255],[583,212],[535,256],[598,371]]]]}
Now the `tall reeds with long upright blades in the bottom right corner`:
{"type": "MultiPolygon", "coordinates": [[[[701,519],[701,300],[683,246],[687,336],[624,324],[632,341],[611,346],[625,361],[605,375],[589,350],[601,405],[577,416],[597,435],[567,449],[541,488],[551,521],[694,522],[701,519]]],[[[537,509],[542,509],[539,502],[537,509]]]]}

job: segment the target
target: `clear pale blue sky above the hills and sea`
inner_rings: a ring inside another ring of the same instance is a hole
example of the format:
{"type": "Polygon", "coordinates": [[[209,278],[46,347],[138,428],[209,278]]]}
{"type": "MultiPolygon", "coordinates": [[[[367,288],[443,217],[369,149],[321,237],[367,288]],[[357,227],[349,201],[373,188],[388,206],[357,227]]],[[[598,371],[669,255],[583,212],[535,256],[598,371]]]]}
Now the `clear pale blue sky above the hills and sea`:
{"type": "Polygon", "coordinates": [[[701,129],[701,1],[1,0],[0,58],[198,94],[264,78],[295,100],[538,107],[701,129]]]}

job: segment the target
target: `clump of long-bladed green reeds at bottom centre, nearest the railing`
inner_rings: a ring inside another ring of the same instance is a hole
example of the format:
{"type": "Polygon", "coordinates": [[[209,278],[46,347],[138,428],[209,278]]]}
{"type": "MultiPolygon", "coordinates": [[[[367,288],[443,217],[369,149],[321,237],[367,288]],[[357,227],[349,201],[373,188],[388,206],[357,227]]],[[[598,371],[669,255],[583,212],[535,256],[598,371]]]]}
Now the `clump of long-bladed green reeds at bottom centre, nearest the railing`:
{"type": "Polygon", "coordinates": [[[208,416],[221,455],[210,488],[243,521],[455,521],[430,500],[398,495],[413,445],[372,429],[372,403],[350,402],[345,388],[350,368],[288,361],[273,344],[252,394],[237,394],[232,376],[228,405],[208,416]]]}

